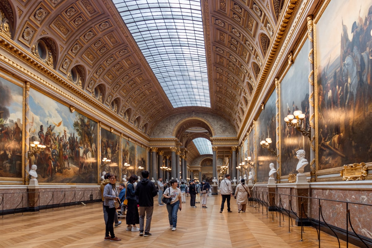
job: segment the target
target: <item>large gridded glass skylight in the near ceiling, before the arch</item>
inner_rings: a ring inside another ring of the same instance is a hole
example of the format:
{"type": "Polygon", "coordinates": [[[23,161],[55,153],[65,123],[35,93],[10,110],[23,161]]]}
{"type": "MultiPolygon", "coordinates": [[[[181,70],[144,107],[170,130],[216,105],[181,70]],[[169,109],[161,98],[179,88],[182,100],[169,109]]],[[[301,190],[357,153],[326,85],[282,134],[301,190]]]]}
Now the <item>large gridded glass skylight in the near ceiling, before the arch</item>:
{"type": "Polygon", "coordinates": [[[200,0],[113,0],[173,107],[211,107],[200,0]]]}

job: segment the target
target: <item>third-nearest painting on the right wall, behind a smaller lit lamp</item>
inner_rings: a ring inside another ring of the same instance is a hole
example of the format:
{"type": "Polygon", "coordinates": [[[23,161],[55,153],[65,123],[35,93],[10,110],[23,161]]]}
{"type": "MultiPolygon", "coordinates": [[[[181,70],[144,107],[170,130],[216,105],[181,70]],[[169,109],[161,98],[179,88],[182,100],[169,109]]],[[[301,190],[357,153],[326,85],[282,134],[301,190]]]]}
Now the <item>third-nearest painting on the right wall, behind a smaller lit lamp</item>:
{"type": "Polygon", "coordinates": [[[272,144],[270,148],[275,149],[276,147],[276,92],[273,91],[269,100],[265,104],[264,110],[260,113],[260,116],[256,120],[256,130],[257,130],[257,158],[255,165],[257,170],[257,182],[267,182],[269,181],[269,164],[274,163],[276,168],[276,154],[272,154],[266,148],[262,148],[260,141],[266,138],[271,138],[272,144]]]}

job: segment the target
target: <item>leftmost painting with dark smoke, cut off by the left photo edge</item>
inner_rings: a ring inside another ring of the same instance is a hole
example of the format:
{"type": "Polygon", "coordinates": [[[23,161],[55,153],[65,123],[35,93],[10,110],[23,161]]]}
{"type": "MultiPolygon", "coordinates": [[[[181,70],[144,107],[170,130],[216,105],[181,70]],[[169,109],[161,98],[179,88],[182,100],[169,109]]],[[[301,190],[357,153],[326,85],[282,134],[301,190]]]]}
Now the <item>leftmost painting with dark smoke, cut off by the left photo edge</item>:
{"type": "Polygon", "coordinates": [[[0,177],[22,177],[23,89],[0,77],[0,177]]]}

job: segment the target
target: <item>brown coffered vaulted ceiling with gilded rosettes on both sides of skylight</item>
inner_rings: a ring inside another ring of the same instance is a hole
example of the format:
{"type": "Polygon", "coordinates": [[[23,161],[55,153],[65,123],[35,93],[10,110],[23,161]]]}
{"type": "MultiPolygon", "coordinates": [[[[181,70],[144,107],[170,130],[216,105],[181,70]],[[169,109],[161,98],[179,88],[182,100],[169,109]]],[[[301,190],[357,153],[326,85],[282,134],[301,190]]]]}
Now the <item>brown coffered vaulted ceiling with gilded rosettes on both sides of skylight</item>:
{"type": "Polygon", "coordinates": [[[172,107],[110,0],[0,0],[0,6],[9,37],[31,57],[88,101],[151,134],[167,116],[193,110],[217,114],[238,130],[254,104],[283,2],[202,0],[211,108],[172,107]]]}

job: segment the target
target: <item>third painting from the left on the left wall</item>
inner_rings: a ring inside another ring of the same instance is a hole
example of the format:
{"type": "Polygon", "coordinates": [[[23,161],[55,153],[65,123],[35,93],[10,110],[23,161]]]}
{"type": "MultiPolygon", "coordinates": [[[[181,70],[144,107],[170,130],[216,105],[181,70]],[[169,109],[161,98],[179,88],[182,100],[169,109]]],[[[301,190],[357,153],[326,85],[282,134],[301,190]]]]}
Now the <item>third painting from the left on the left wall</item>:
{"type": "Polygon", "coordinates": [[[116,174],[119,181],[119,164],[120,164],[120,136],[101,128],[101,173],[116,174]],[[107,164],[102,162],[103,158],[111,160],[107,164]]]}

